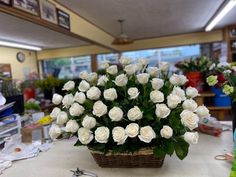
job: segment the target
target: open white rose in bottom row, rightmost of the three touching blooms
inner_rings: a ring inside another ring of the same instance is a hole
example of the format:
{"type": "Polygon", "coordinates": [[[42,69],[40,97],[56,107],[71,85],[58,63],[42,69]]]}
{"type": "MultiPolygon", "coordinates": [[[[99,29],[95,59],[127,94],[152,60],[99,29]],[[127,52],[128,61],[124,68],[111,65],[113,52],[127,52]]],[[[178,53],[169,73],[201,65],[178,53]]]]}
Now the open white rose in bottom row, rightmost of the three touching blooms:
{"type": "Polygon", "coordinates": [[[152,139],[156,138],[156,133],[153,131],[152,127],[145,126],[140,128],[139,139],[145,143],[150,143],[152,139]]]}

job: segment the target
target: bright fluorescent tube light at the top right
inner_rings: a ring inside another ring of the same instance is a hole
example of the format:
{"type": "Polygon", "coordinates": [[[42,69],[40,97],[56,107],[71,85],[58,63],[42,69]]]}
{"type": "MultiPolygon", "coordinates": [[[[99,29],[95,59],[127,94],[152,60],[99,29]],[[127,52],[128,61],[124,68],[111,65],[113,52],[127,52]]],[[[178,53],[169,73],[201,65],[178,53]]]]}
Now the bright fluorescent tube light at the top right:
{"type": "Polygon", "coordinates": [[[220,12],[208,23],[205,31],[211,31],[214,26],[236,5],[236,0],[229,0],[220,12]]]}

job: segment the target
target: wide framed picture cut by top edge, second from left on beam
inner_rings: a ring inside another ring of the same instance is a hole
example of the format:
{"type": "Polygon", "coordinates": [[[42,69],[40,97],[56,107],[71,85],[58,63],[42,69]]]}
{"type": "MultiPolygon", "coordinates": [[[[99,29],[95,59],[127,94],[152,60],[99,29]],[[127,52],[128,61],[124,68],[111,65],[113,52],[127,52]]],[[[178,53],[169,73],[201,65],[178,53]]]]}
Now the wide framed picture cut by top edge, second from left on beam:
{"type": "Polygon", "coordinates": [[[38,0],[13,0],[13,7],[34,15],[39,15],[38,0]]]}

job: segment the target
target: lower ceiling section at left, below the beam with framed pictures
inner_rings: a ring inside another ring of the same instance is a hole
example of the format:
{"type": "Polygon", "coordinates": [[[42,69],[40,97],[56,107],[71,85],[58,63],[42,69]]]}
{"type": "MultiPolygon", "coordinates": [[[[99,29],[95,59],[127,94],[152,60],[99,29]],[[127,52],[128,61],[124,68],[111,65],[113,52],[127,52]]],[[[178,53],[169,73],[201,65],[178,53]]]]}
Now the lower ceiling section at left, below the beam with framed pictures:
{"type": "Polygon", "coordinates": [[[0,24],[0,40],[30,44],[44,49],[88,44],[5,13],[0,13],[0,24]]]}

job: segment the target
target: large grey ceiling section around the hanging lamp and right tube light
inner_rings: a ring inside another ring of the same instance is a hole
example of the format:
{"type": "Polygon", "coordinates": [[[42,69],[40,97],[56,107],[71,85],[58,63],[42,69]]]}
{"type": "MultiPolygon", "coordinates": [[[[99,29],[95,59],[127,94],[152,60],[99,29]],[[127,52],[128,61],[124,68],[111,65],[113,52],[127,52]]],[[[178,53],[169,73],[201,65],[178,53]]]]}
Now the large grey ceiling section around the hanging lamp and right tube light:
{"type": "MultiPolygon", "coordinates": [[[[203,31],[224,0],[56,0],[106,32],[119,34],[117,19],[133,39],[203,31]]],[[[236,7],[217,26],[236,23],[236,7]]]]}

